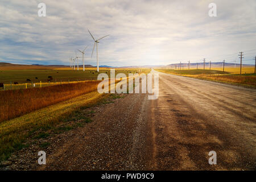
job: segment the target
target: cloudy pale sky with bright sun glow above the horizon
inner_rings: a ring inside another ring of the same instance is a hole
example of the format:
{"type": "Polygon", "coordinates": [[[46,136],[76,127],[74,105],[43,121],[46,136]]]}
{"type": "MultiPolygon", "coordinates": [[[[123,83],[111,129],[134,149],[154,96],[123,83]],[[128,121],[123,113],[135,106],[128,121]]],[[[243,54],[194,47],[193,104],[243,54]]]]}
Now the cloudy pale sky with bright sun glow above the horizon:
{"type": "Polygon", "coordinates": [[[89,28],[96,39],[109,34],[98,44],[100,65],[232,63],[241,51],[244,63],[254,64],[255,10],[255,0],[1,0],[0,62],[69,65],[75,50],[88,46],[85,64],[96,65],[89,28]],[[38,16],[42,2],[45,17],[38,16]]]}

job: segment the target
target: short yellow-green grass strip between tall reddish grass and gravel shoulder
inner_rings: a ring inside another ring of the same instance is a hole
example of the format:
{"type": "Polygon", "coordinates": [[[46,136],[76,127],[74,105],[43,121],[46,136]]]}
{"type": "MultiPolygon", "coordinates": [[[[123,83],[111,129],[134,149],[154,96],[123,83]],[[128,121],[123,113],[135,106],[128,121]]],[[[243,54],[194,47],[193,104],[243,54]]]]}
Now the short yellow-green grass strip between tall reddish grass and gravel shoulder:
{"type": "Polygon", "coordinates": [[[7,159],[11,152],[25,147],[26,139],[31,139],[34,133],[35,137],[40,138],[47,130],[63,129],[56,126],[64,121],[67,115],[81,107],[97,104],[105,97],[109,97],[109,94],[94,91],[0,123],[0,161],[7,159]]]}

